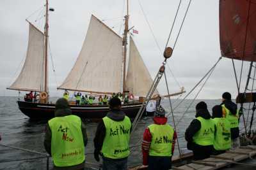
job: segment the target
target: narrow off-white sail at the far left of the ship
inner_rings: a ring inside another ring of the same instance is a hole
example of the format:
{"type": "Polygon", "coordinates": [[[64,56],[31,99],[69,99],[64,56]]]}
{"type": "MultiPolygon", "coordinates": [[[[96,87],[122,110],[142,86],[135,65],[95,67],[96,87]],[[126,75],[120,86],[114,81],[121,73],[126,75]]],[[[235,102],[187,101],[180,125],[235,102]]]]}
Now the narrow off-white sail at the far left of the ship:
{"type": "Polygon", "coordinates": [[[7,89],[43,90],[44,85],[44,33],[29,23],[29,41],[26,60],[18,78],[7,89]]]}

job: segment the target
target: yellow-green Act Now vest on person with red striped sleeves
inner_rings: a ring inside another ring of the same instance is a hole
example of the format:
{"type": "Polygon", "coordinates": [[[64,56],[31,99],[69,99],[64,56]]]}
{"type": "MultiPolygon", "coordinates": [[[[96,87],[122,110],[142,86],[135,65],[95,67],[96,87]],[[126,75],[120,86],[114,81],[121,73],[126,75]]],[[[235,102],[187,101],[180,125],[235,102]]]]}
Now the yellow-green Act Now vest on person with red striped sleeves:
{"type": "Polygon", "coordinates": [[[174,130],[172,126],[152,124],[148,126],[152,135],[150,156],[171,157],[174,130]]]}

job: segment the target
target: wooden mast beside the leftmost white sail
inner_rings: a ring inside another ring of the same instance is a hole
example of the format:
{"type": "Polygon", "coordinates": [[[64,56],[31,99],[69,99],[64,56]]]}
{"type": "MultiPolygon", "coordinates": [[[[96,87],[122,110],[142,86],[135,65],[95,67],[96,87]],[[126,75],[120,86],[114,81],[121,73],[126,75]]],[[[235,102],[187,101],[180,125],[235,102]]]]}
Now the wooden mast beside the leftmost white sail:
{"type": "Polygon", "coordinates": [[[44,27],[44,35],[45,35],[45,55],[44,55],[44,92],[48,92],[48,11],[49,11],[49,4],[48,0],[46,0],[45,4],[45,27],[44,27]]]}

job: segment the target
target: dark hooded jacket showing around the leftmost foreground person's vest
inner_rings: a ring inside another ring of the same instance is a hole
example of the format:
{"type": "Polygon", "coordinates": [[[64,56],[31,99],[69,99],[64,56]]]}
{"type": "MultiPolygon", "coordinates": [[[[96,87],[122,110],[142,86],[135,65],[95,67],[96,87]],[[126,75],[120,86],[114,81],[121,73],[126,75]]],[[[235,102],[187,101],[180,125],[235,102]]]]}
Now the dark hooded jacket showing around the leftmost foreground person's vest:
{"type": "MultiPolygon", "coordinates": [[[[65,109],[59,109],[55,111],[55,117],[65,117],[67,115],[71,115],[71,110],[70,108],[65,108],[65,109]]],[[[82,134],[83,134],[83,141],[84,141],[84,146],[87,145],[87,134],[86,134],[86,127],[83,124],[83,122],[81,122],[81,130],[82,130],[82,134]]],[[[45,126],[45,138],[44,138],[44,147],[47,153],[49,153],[49,155],[51,155],[51,141],[52,141],[52,132],[51,129],[49,127],[49,124],[47,123],[47,125],[45,126]]],[[[73,169],[81,169],[84,167],[84,163],[82,164],[78,164],[76,166],[69,166],[69,167],[55,167],[54,169],[65,169],[65,170],[73,170],[73,169]]]]}

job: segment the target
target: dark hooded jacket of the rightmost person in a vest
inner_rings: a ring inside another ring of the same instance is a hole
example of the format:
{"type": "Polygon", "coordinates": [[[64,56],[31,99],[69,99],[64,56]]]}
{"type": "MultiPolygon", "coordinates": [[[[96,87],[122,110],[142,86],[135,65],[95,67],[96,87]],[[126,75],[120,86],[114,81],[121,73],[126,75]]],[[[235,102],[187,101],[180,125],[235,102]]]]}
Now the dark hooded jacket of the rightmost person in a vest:
{"type": "MultiPolygon", "coordinates": [[[[237,113],[237,105],[236,103],[225,99],[221,105],[224,104],[225,107],[231,112],[232,115],[236,115],[237,113]]],[[[234,127],[230,129],[231,139],[236,139],[239,137],[239,127],[234,127]]]]}

